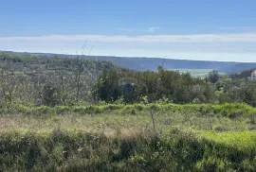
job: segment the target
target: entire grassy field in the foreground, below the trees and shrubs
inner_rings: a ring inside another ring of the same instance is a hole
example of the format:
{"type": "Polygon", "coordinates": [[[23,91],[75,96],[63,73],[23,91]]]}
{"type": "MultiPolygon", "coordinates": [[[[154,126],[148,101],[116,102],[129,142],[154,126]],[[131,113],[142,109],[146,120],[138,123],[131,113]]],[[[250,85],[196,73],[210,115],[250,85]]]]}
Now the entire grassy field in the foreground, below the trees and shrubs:
{"type": "Polygon", "coordinates": [[[0,171],[253,171],[255,115],[245,104],[2,109],[0,171]]]}

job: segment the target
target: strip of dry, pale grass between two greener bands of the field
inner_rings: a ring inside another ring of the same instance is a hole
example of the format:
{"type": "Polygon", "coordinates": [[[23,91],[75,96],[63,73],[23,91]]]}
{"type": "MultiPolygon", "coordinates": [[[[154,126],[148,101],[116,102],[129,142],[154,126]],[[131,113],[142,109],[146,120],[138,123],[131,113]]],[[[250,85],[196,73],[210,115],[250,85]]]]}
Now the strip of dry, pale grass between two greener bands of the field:
{"type": "MultiPolygon", "coordinates": [[[[122,133],[132,135],[137,131],[152,129],[150,113],[122,114],[102,112],[101,114],[80,114],[65,112],[60,115],[5,114],[0,116],[0,129],[76,129],[88,132],[103,132],[108,136],[122,133]]],[[[234,131],[254,130],[256,125],[247,117],[231,119],[225,116],[201,116],[196,113],[161,112],[155,117],[155,129],[163,132],[170,128],[234,131]]]]}

